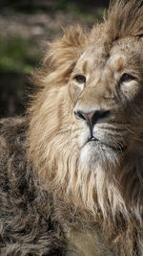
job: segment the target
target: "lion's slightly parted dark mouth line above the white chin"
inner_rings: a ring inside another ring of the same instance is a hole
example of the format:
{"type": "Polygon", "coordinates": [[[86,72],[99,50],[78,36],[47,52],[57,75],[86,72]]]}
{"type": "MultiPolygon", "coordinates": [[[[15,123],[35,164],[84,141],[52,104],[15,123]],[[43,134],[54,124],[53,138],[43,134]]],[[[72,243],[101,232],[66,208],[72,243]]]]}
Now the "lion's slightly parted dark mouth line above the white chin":
{"type": "Polygon", "coordinates": [[[124,145],[122,145],[122,146],[121,145],[120,146],[109,145],[109,144],[99,140],[98,138],[95,138],[94,136],[90,137],[88,139],[88,141],[86,142],[86,144],[87,143],[95,143],[96,145],[99,145],[101,147],[103,146],[104,148],[106,147],[106,148],[111,149],[112,151],[116,151],[116,152],[120,152],[120,153],[127,149],[127,147],[124,145]]]}

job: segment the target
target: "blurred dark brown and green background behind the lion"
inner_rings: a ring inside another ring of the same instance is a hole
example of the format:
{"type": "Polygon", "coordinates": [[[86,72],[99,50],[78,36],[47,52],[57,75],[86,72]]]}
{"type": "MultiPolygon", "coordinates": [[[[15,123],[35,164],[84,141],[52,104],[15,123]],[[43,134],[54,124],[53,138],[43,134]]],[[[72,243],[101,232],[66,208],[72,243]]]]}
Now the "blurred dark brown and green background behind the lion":
{"type": "Polygon", "coordinates": [[[0,117],[24,114],[47,40],[101,20],[109,0],[0,0],[0,117]]]}

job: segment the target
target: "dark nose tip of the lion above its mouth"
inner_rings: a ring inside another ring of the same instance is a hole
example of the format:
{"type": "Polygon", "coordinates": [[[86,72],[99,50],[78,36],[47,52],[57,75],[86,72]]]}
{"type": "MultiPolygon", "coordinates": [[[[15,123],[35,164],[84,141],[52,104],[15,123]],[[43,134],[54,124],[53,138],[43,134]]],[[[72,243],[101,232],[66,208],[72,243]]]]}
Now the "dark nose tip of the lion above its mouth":
{"type": "Polygon", "coordinates": [[[85,120],[90,127],[93,127],[99,121],[99,119],[109,117],[110,110],[95,109],[91,112],[77,110],[74,112],[74,115],[76,119],[85,120]]]}

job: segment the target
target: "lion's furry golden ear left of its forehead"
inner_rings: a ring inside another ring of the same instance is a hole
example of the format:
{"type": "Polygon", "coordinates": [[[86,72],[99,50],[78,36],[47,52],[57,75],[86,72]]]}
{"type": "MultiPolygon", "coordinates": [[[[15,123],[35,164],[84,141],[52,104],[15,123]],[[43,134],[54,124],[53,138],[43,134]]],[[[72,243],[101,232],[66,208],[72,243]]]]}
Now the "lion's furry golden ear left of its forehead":
{"type": "Polygon", "coordinates": [[[48,52],[44,59],[44,66],[51,76],[68,76],[72,72],[77,59],[83,53],[87,41],[87,33],[79,26],[63,30],[62,38],[49,43],[48,52]]]}

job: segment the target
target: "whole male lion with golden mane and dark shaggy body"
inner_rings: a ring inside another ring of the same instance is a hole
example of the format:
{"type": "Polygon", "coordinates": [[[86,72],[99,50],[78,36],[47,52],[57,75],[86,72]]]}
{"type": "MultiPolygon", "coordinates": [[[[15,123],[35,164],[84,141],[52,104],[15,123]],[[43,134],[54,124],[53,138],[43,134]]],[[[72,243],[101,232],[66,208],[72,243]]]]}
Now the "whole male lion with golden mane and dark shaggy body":
{"type": "Polygon", "coordinates": [[[143,1],[48,44],[23,118],[0,122],[0,255],[143,251],[143,1]]]}

